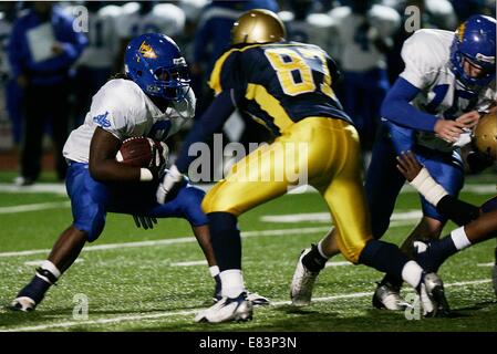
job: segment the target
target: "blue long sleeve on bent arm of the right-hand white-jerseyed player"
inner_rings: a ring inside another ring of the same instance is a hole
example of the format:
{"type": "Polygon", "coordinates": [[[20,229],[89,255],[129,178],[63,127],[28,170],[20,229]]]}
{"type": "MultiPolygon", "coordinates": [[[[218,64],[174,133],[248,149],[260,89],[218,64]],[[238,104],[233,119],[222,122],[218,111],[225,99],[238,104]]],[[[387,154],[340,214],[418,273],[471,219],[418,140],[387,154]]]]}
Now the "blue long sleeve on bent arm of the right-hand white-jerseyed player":
{"type": "Polygon", "coordinates": [[[418,93],[420,88],[398,77],[383,101],[382,116],[412,129],[433,132],[438,118],[421,112],[410,103],[418,93]]]}

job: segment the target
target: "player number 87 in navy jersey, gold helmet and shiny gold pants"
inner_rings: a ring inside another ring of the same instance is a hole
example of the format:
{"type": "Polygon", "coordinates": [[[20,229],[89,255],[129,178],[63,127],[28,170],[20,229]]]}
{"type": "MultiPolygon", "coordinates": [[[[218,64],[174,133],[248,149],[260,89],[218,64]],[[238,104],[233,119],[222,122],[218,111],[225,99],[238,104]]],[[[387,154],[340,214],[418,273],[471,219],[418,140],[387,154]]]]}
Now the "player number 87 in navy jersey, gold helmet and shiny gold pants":
{"type": "Polygon", "coordinates": [[[204,199],[224,298],[201,311],[196,321],[251,319],[237,218],[299,184],[313,186],[324,198],[340,250],[348,260],[402,278],[421,293],[426,312],[445,308],[443,283],[435,273],[424,272],[396,246],[372,237],[361,179],[360,142],[331,88],[336,75],[333,61],[319,46],[287,42],[283,23],[268,10],[245,12],[235,22],[231,35],[231,49],[216,62],[209,82],[216,98],[187,136],[176,165],[165,175],[157,201],[165,202],[174,195],[188,171],[193,160],[189,147],[209,139],[236,108],[263,124],[276,139],[239,160],[204,199]]]}

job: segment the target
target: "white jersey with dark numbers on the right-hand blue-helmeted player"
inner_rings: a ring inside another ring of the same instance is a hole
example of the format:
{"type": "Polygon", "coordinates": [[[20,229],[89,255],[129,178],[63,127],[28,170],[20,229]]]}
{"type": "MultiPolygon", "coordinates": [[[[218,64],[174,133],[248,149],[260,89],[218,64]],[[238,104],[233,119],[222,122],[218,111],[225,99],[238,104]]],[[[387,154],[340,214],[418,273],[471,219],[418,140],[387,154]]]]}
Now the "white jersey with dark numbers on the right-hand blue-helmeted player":
{"type": "MultiPolygon", "coordinates": [[[[401,76],[421,90],[412,104],[443,118],[457,118],[469,111],[485,111],[497,98],[496,83],[478,92],[465,88],[451,70],[454,32],[418,30],[402,48],[405,70],[401,76]]],[[[420,133],[418,143],[441,150],[454,149],[434,133],[420,133]]]]}

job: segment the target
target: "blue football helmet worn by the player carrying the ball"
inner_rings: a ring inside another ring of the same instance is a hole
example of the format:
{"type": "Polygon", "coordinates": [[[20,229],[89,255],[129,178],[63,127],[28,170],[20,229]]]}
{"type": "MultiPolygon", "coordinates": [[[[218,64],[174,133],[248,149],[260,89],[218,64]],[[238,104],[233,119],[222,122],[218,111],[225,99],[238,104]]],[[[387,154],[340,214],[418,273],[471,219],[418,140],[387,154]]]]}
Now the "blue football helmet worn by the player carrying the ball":
{"type": "Polygon", "coordinates": [[[146,33],[133,39],[124,54],[124,71],[151,96],[182,101],[190,88],[186,61],[165,34],[146,33]]]}

